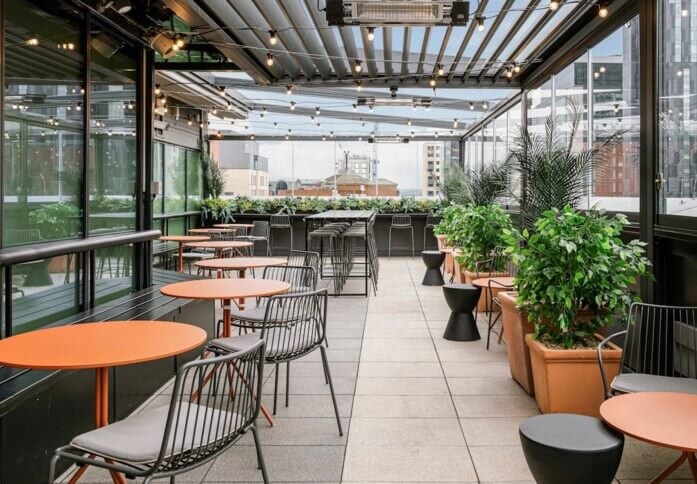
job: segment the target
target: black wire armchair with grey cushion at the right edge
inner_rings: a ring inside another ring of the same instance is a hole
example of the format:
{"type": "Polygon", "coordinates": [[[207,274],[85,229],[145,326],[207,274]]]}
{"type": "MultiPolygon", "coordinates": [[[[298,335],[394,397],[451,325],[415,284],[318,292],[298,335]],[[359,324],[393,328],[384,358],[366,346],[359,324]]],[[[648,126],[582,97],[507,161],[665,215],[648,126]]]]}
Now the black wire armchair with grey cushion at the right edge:
{"type": "Polygon", "coordinates": [[[697,394],[697,307],[632,304],[627,329],[598,345],[598,365],[606,398],[651,391],[697,394]],[[609,382],[602,351],[613,340],[624,349],[620,373],[609,382]]]}

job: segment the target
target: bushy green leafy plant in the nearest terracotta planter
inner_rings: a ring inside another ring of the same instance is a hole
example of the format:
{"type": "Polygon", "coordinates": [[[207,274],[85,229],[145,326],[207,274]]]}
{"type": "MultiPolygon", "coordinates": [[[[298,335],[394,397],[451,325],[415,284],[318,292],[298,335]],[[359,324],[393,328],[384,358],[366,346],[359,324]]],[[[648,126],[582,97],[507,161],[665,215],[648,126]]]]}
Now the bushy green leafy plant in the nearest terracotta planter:
{"type": "Polygon", "coordinates": [[[626,314],[631,286],[647,276],[646,245],[620,238],[626,217],[582,213],[570,206],[544,212],[534,230],[506,230],[518,271],[518,304],[551,346],[592,346],[593,334],[626,314]],[[582,313],[588,317],[579,317],[582,313]]]}

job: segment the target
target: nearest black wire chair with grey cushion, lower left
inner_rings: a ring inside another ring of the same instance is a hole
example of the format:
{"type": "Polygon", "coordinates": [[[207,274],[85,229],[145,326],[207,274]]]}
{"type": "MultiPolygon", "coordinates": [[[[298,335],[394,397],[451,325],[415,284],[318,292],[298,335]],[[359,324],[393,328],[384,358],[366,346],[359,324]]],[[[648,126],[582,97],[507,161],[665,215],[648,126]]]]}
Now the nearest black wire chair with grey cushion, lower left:
{"type": "Polygon", "coordinates": [[[264,370],[264,343],[199,359],[177,371],[169,406],[75,437],[51,459],[49,483],[60,459],[122,473],[144,483],[188,472],[216,458],[251,430],[264,482],[268,475],[256,419],[264,370]],[[99,456],[104,460],[91,458],[99,456]]]}

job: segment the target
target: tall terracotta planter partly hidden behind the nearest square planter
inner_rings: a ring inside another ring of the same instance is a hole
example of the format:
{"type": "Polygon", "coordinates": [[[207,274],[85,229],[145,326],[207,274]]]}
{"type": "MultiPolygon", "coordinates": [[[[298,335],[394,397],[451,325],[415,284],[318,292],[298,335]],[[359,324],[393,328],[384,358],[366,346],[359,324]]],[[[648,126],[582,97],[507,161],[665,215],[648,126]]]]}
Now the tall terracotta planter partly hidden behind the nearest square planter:
{"type": "Polygon", "coordinates": [[[535,327],[528,322],[527,315],[518,310],[516,295],[515,292],[499,293],[508,367],[511,371],[511,377],[523,387],[523,390],[534,395],[535,386],[532,379],[530,349],[525,342],[525,335],[534,332],[535,327]]]}

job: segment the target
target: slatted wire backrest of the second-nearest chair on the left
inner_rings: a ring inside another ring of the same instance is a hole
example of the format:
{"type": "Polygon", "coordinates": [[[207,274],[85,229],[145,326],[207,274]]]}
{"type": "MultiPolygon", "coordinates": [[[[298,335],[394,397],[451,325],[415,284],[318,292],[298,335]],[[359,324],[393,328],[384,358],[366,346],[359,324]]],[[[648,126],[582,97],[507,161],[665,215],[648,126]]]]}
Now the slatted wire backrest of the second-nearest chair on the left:
{"type": "Polygon", "coordinates": [[[324,341],[326,322],[327,289],[272,296],[260,335],[266,361],[289,361],[313,351],[324,341]]]}

